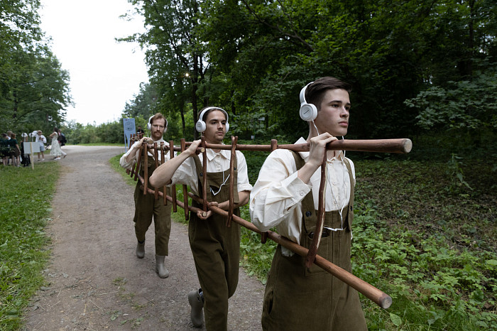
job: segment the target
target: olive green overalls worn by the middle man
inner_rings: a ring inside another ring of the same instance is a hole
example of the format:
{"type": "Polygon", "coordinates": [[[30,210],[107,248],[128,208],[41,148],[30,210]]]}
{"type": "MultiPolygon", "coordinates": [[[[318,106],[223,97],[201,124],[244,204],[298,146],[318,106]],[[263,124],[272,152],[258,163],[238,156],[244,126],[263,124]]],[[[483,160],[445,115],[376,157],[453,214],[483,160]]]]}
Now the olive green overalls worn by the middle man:
{"type": "MultiPolygon", "coordinates": [[[[193,157],[199,174],[199,192],[202,192],[202,164],[198,156],[193,157]]],[[[236,165],[236,156],[234,160],[236,165]]],[[[239,202],[236,168],[234,169],[234,203],[239,202]]],[[[229,180],[222,185],[217,195],[212,195],[210,188],[217,192],[229,175],[229,169],[219,173],[207,173],[207,200],[224,202],[229,200],[229,180]],[[224,178],[223,178],[224,176],[224,178]]],[[[202,205],[192,202],[202,209],[202,205]]],[[[233,212],[240,216],[239,208],[233,212]]],[[[197,276],[204,295],[204,318],[207,330],[226,330],[228,323],[228,298],[235,293],[238,285],[240,260],[240,226],[231,222],[226,227],[227,217],[212,214],[208,219],[199,219],[195,212],[190,212],[188,238],[192,249],[197,276]]]]}

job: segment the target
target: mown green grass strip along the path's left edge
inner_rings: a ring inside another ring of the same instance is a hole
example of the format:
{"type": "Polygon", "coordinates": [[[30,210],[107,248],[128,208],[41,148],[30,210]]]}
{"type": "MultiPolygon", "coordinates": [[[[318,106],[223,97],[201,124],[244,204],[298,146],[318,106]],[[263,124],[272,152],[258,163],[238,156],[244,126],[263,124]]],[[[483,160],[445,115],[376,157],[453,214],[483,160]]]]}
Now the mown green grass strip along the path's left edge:
{"type": "Polygon", "coordinates": [[[31,296],[45,283],[50,252],[45,224],[60,165],[0,165],[0,330],[19,330],[31,296]]]}

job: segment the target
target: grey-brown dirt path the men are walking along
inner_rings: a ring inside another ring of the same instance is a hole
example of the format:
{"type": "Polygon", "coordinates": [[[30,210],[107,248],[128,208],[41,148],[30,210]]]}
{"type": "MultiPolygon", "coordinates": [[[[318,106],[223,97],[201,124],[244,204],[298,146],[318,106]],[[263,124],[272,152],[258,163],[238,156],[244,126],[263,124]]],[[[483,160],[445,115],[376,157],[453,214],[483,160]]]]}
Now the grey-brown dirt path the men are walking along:
{"type": "MultiPolygon", "coordinates": [[[[187,293],[199,288],[187,227],[173,222],[165,259],[170,276],[159,278],[153,226],[146,256],[137,259],[133,188],[108,163],[123,148],[64,151],[47,229],[53,256],[43,273],[50,285],[33,298],[26,330],[199,330],[187,302],[187,293]]],[[[261,330],[262,298],[263,285],[241,270],[229,300],[229,330],[261,330]]]]}

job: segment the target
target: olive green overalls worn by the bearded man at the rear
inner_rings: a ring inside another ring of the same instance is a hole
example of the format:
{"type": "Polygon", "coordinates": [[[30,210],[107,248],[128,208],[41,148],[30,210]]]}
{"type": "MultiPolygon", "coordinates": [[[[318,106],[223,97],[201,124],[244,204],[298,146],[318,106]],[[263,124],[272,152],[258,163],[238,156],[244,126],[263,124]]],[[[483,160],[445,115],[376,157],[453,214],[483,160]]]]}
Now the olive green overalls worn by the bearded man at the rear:
{"type": "MultiPolygon", "coordinates": [[[[143,177],[143,160],[141,161],[141,171],[140,175],[143,177]]],[[[155,160],[148,156],[148,178],[155,170],[155,160]]],[[[148,182],[150,183],[150,182],[148,182]]],[[[138,241],[143,242],[145,240],[145,234],[152,223],[155,227],[155,254],[160,256],[165,256],[169,254],[169,235],[171,232],[171,203],[167,206],[164,205],[164,200],[159,197],[155,200],[155,195],[152,193],[147,193],[143,195],[143,189],[141,189],[141,183],[138,180],[135,188],[135,216],[133,222],[135,222],[135,234],[138,241]]],[[[154,188],[149,185],[148,188],[154,190],[154,188]]],[[[160,192],[163,192],[163,188],[159,188],[160,192]]],[[[166,190],[167,194],[170,195],[170,188],[166,190]]]]}

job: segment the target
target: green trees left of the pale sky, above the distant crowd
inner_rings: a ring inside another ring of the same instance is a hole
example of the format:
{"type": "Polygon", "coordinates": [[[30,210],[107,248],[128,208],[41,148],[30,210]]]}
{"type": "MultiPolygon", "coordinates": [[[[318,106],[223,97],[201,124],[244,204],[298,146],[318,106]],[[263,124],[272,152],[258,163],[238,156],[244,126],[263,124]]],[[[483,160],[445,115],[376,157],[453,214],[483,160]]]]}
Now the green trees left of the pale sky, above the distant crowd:
{"type": "Polygon", "coordinates": [[[0,1],[0,131],[52,132],[70,104],[69,74],[40,30],[39,0],[0,1]]]}

